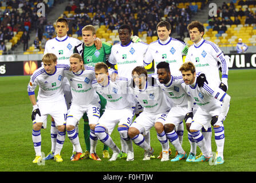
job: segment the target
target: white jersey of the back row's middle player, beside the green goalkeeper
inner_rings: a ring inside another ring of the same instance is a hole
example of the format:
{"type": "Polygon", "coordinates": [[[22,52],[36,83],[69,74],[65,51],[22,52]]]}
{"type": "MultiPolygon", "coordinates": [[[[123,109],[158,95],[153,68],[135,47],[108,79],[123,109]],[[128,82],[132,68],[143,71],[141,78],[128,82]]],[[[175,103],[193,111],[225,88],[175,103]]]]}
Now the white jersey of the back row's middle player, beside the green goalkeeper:
{"type": "Polygon", "coordinates": [[[132,78],[132,70],[136,66],[143,66],[144,54],[148,49],[148,44],[144,42],[133,43],[132,41],[123,46],[117,43],[112,46],[109,62],[117,64],[118,75],[132,78]]]}

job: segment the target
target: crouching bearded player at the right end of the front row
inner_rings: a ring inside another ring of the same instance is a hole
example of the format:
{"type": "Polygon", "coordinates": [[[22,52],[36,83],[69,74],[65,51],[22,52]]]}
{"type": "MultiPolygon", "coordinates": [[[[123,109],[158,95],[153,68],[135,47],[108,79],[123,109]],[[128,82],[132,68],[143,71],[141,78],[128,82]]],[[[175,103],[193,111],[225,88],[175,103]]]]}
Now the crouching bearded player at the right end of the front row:
{"type": "Polygon", "coordinates": [[[215,132],[215,142],[217,145],[218,155],[216,156],[215,165],[224,163],[223,149],[225,135],[223,121],[229,112],[230,96],[219,87],[211,85],[211,80],[207,78],[209,84],[204,83],[202,87],[196,83],[196,67],[192,62],[183,63],[180,67],[185,84],[185,90],[192,97],[198,109],[192,118],[190,133],[199,146],[202,156],[193,162],[208,161],[211,158],[211,152],[208,151],[206,141],[200,132],[202,128],[208,129],[212,125],[215,132]],[[221,104],[220,104],[221,102],[221,104]]]}

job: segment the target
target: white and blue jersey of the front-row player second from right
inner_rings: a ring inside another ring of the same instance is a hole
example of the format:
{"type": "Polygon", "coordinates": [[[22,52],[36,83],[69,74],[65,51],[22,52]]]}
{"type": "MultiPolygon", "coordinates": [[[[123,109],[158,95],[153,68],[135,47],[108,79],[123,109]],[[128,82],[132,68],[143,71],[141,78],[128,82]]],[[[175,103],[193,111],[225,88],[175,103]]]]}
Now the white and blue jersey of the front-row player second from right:
{"type": "MultiPolygon", "coordinates": [[[[157,78],[157,74],[152,74],[152,77],[157,78]]],[[[157,85],[159,85],[165,96],[167,97],[168,102],[171,106],[187,106],[188,104],[188,95],[184,90],[184,83],[182,76],[174,77],[171,75],[170,82],[166,85],[159,82],[156,79],[157,85]]]]}

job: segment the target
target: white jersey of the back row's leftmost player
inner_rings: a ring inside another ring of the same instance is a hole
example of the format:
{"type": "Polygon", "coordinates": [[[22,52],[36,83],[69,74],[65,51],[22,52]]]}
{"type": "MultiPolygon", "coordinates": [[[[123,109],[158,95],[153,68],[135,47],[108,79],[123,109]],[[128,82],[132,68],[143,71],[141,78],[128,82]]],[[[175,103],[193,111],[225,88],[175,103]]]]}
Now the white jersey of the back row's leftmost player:
{"type": "Polygon", "coordinates": [[[56,37],[45,43],[44,54],[53,53],[58,57],[58,63],[69,65],[69,57],[73,54],[74,46],[80,43],[81,41],[68,35],[63,38],[56,37]]]}

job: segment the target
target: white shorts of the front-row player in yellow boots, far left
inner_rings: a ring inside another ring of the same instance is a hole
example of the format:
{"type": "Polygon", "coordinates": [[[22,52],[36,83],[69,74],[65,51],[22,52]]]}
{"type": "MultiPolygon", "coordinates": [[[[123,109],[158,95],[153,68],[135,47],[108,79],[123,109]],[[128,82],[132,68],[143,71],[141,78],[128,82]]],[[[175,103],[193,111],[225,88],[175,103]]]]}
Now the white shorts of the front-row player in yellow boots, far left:
{"type": "Polygon", "coordinates": [[[42,122],[43,128],[46,129],[48,115],[53,117],[56,126],[66,124],[67,108],[64,97],[62,100],[57,102],[38,101],[37,105],[41,116],[37,115],[36,119],[33,121],[33,124],[36,122],[42,122]]]}

